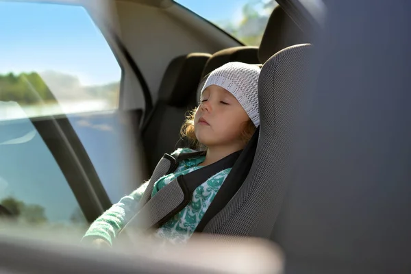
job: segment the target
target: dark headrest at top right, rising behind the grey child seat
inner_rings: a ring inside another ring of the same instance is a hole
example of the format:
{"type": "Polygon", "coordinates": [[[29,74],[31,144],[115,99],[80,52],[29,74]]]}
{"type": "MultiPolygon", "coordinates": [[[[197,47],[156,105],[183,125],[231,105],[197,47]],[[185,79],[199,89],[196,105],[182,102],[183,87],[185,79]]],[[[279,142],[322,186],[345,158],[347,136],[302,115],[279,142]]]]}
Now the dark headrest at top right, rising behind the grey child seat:
{"type": "Polygon", "coordinates": [[[262,36],[258,58],[262,64],[277,51],[286,47],[309,42],[294,21],[277,5],[269,18],[262,36]]]}

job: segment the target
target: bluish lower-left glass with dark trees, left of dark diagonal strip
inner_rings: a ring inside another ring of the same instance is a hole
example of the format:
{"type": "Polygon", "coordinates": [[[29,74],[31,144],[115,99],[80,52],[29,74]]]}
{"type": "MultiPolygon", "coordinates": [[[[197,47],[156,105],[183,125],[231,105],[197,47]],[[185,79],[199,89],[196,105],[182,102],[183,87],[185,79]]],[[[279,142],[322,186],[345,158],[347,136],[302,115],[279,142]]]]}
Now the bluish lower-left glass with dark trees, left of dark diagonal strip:
{"type": "MultiPolygon", "coordinates": [[[[15,103],[0,102],[0,109],[15,103]]],[[[0,206],[20,223],[85,226],[86,219],[29,119],[0,121],[0,206]]]]}

